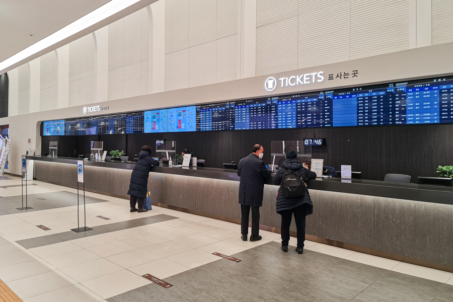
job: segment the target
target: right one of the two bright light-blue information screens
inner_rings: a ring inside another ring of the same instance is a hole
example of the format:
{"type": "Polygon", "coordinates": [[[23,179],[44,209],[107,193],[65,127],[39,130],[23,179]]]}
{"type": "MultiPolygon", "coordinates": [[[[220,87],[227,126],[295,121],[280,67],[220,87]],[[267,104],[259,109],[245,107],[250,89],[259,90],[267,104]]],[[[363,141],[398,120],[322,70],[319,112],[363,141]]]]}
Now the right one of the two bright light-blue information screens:
{"type": "Polygon", "coordinates": [[[196,130],[196,106],[168,109],[168,132],[196,130]]]}

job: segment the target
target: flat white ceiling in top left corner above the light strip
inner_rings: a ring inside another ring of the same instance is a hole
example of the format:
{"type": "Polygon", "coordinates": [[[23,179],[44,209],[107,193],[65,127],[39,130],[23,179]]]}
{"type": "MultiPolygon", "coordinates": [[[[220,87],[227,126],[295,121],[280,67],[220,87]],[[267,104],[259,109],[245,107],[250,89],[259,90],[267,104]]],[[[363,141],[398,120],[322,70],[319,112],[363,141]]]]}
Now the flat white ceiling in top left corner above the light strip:
{"type": "Polygon", "coordinates": [[[108,2],[110,0],[1,0],[0,62],[108,2]]]}

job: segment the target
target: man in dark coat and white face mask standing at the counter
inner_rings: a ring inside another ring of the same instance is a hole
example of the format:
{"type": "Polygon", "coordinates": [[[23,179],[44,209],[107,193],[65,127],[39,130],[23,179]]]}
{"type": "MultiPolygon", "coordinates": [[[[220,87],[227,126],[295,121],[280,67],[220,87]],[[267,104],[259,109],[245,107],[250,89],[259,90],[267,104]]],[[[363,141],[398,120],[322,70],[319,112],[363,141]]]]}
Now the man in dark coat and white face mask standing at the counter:
{"type": "Polygon", "coordinates": [[[260,144],[253,146],[252,153],[239,162],[239,203],[241,204],[241,238],[247,241],[249,234],[249,214],[252,208],[252,235],[250,241],[261,240],[260,232],[260,206],[263,206],[264,180],[270,177],[261,160],[264,148],[260,144]]]}

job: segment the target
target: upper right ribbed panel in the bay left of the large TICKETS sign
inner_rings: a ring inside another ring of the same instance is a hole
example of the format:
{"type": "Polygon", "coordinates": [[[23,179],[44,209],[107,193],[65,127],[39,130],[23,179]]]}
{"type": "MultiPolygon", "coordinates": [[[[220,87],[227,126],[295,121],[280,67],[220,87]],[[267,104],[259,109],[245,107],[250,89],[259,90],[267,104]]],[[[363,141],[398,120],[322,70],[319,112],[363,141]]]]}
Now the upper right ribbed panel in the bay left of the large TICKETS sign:
{"type": "Polygon", "coordinates": [[[217,1],[217,39],[238,33],[238,14],[238,0],[217,1]]]}

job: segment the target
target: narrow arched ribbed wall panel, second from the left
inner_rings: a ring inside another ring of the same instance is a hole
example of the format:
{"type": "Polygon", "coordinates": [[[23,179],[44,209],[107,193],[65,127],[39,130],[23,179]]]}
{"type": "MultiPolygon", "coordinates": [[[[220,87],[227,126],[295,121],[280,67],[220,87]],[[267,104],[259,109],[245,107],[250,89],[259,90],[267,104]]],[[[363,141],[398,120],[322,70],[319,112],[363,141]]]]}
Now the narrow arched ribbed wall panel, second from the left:
{"type": "Polygon", "coordinates": [[[40,57],[39,111],[57,108],[57,68],[55,51],[40,57]]]}

